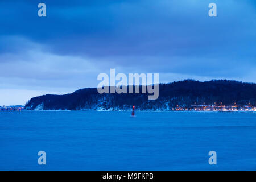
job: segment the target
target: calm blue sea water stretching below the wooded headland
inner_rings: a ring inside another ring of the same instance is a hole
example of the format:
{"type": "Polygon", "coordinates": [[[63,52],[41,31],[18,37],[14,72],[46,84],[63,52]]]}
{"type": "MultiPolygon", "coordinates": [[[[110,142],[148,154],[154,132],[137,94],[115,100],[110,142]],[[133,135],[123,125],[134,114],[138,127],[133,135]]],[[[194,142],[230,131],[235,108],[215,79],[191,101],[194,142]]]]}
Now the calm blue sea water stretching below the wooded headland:
{"type": "Polygon", "coordinates": [[[255,170],[256,113],[1,111],[0,169],[255,170]]]}

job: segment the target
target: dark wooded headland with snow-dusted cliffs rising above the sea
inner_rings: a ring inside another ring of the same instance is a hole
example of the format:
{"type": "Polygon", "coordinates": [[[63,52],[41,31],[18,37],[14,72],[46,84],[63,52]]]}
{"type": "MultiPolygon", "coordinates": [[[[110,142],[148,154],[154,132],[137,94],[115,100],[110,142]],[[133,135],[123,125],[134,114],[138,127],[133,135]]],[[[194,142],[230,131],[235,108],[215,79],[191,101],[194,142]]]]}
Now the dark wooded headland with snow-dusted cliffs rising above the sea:
{"type": "Polygon", "coordinates": [[[71,94],[31,98],[28,110],[172,110],[192,105],[256,106],[256,84],[228,80],[184,80],[159,85],[159,98],[148,94],[99,94],[97,88],[80,89],[71,94]]]}

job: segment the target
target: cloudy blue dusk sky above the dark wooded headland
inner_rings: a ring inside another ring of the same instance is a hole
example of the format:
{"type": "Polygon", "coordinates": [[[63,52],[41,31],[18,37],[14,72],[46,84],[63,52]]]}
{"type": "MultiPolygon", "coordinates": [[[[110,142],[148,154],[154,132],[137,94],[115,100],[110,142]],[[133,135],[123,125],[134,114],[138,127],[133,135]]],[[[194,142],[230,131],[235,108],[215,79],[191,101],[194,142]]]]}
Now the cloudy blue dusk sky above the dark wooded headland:
{"type": "Polygon", "coordinates": [[[255,82],[255,9],[254,0],[1,0],[0,105],[97,87],[110,68],[159,82],[255,82]]]}

